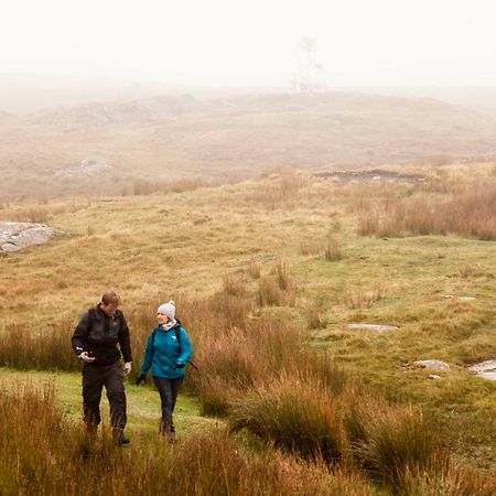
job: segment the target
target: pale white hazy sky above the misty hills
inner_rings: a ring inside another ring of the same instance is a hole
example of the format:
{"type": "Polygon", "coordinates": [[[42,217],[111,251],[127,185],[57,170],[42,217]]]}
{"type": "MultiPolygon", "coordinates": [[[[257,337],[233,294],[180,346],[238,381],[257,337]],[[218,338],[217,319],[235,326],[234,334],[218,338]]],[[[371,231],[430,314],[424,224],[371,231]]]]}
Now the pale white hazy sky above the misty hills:
{"type": "Polygon", "coordinates": [[[1,0],[0,73],[288,86],[496,85],[495,0],[1,0]],[[300,58],[301,61],[301,58],[300,58]]]}

